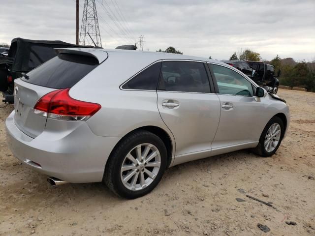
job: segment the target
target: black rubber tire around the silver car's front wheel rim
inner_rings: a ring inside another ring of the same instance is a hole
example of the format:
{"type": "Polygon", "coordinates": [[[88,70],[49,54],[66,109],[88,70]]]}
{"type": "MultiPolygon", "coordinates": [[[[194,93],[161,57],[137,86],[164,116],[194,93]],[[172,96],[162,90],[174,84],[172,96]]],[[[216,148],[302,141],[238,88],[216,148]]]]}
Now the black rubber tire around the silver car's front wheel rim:
{"type": "Polygon", "coordinates": [[[269,157],[272,156],[279,148],[281,141],[284,137],[284,122],[282,121],[281,118],[279,117],[273,117],[269,120],[269,122],[266,124],[264,130],[262,131],[260,138],[259,138],[259,143],[257,145],[256,148],[253,148],[252,151],[262,157],[269,157]],[[267,151],[265,148],[265,137],[266,134],[268,132],[268,129],[270,128],[270,126],[272,126],[273,124],[278,123],[280,125],[281,128],[281,136],[280,136],[280,140],[278,142],[278,145],[276,146],[276,148],[272,151],[267,151]]]}

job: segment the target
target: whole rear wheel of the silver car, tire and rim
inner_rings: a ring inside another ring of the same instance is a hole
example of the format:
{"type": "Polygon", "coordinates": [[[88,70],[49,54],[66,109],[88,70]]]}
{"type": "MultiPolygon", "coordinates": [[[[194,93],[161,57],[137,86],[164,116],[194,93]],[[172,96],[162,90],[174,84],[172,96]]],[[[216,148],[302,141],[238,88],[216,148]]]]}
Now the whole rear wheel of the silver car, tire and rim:
{"type": "Polygon", "coordinates": [[[163,141],[148,131],[126,136],[111,154],[104,181],[116,194],[128,199],[152,191],[166,168],[167,151],[163,141]]]}

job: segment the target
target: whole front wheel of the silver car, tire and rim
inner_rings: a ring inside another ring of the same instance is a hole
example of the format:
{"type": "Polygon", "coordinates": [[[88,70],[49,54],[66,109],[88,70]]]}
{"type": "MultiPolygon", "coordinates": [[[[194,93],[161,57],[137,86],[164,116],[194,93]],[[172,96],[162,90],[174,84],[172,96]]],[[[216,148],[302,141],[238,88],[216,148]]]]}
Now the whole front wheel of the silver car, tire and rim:
{"type": "Polygon", "coordinates": [[[263,156],[272,156],[279,148],[284,136],[284,122],[279,117],[269,120],[259,139],[259,143],[253,152],[263,156]]]}

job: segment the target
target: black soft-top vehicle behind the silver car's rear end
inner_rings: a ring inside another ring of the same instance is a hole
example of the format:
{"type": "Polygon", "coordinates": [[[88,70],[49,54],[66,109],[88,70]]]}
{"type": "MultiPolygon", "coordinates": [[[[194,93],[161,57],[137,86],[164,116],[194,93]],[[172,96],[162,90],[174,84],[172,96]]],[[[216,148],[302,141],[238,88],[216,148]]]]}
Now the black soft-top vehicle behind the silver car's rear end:
{"type": "Polygon", "coordinates": [[[63,41],[14,38],[7,57],[0,57],[0,91],[4,102],[14,103],[14,80],[57,56],[55,48],[93,48],[63,41]]]}

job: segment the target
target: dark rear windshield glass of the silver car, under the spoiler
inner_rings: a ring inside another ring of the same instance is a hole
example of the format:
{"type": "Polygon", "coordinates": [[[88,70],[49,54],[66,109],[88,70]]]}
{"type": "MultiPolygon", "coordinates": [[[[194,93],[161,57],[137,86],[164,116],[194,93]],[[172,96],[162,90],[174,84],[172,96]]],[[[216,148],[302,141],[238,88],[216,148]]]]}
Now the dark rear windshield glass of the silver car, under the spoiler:
{"type": "Polygon", "coordinates": [[[97,59],[73,54],[59,54],[30,71],[22,80],[52,89],[71,88],[98,65],[97,59]]]}

